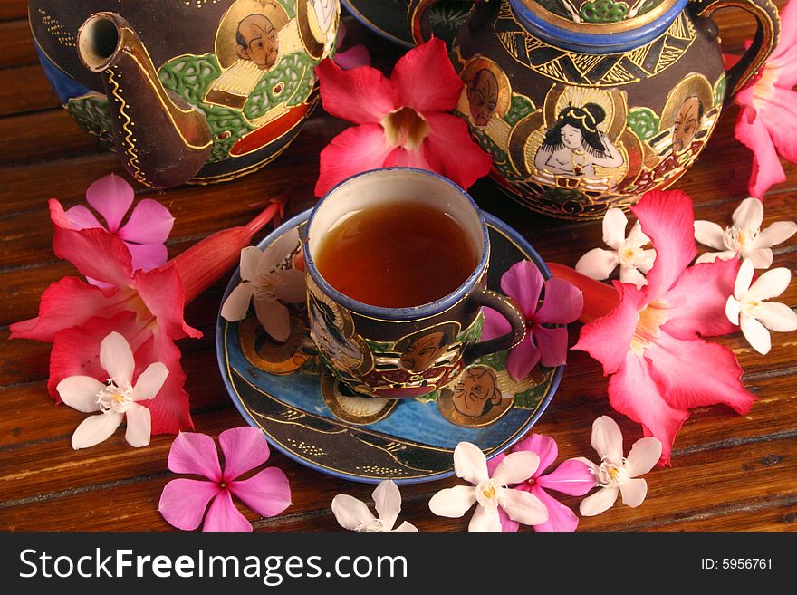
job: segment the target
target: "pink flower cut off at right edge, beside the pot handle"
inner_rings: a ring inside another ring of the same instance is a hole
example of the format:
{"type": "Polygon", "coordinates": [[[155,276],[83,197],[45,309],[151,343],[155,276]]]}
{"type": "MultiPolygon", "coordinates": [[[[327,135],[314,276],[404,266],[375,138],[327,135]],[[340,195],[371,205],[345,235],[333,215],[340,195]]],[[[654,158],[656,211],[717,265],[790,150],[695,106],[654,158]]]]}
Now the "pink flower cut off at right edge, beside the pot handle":
{"type": "Polygon", "coordinates": [[[781,38],[749,86],[736,94],[741,106],[735,135],[753,151],[753,173],[748,190],[761,198],[785,181],[778,158],[797,163],[797,3],[791,0],[781,12],[781,38]]]}

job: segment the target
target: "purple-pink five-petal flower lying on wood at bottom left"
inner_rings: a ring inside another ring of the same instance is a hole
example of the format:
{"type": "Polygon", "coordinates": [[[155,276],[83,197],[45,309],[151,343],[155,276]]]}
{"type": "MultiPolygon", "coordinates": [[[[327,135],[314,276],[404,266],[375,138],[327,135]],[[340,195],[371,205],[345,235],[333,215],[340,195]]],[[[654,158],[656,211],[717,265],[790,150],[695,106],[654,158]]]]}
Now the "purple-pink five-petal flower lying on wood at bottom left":
{"type": "Polygon", "coordinates": [[[158,504],[167,523],[192,531],[204,517],[202,531],[252,531],[252,523],[235,508],[233,495],[264,517],[276,516],[291,505],[288,478],[277,467],[240,479],[268,460],[270,452],[263,432],[256,427],[234,427],[219,434],[218,443],[225,456],[224,470],[213,438],[192,432],[175,438],[168,451],[169,470],[201,475],[209,481],[183,477],[171,480],[158,504]]]}

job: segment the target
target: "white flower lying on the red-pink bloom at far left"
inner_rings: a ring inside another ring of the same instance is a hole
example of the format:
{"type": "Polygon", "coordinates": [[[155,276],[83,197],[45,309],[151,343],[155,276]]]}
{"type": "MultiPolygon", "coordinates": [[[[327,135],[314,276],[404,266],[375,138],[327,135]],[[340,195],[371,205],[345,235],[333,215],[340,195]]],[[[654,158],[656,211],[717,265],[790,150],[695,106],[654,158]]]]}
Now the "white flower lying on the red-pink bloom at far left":
{"type": "Polygon", "coordinates": [[[88,448],[100,444],[120,427],[127,417],[125,439],[130,446],[149,445],[151,419],[149,409],[138,401],[155,398],[168,376],[168,368],[157,361],[149,364],[132,384],[136,363],[128,341],[118,332],[111,332],[100,344],[100,364],[110,379],[103,384],[91,376],[70,376],[55,388],[62,401],[83,413],[101,411],[87,417],[72,435],[72,448],[88,448]]]}

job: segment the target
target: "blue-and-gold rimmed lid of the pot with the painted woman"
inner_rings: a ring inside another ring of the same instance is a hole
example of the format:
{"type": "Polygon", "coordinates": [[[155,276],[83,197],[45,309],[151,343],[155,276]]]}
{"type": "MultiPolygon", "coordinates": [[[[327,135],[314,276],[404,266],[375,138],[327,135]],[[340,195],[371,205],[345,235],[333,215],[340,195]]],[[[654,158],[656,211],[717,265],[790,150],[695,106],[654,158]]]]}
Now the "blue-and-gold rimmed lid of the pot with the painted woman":
{"type": "Polygon", "coordinates": [[[662,34],[688,0],[509,0],[544,41],[587,53],[626,52],[662,34]]]}

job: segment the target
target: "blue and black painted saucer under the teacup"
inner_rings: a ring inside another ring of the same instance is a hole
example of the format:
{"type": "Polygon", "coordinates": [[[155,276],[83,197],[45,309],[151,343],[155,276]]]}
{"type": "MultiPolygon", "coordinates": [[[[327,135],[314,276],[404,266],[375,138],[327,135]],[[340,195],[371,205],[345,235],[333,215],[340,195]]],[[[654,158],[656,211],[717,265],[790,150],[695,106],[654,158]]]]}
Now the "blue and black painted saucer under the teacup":
{"type": "MultiPolygon", "coordinates": [[[[500,291],[501,275],[523,259],[536,264],[545,278],[551,276],[522,235],[484,215],[491,244],[488,287],[500,291]]],[[[309,216],[309,210],[294,216],[258,247],[301,229],[309,216]]],[[[239,281],[236,270],[222,303],[239,281]]],[[[263,429],[274,448],[302,465],[352,481],[421,483],[453,475],[454,448],[463,441],[474,443],[487,458],[495,456],[539,419],[562,377],[562,367],[538,366],[529,378],[516,381],[506,371],[504,350],[476,360],[452,386],[423,398],[364,398],[339,385],[319,364],[305,305],[292,305],[290,312],[292,331],[284,343],[264,333],[251,308],[244,321],[219,316],[216,355],[226,389],[245,420],[263,429]]]]}

